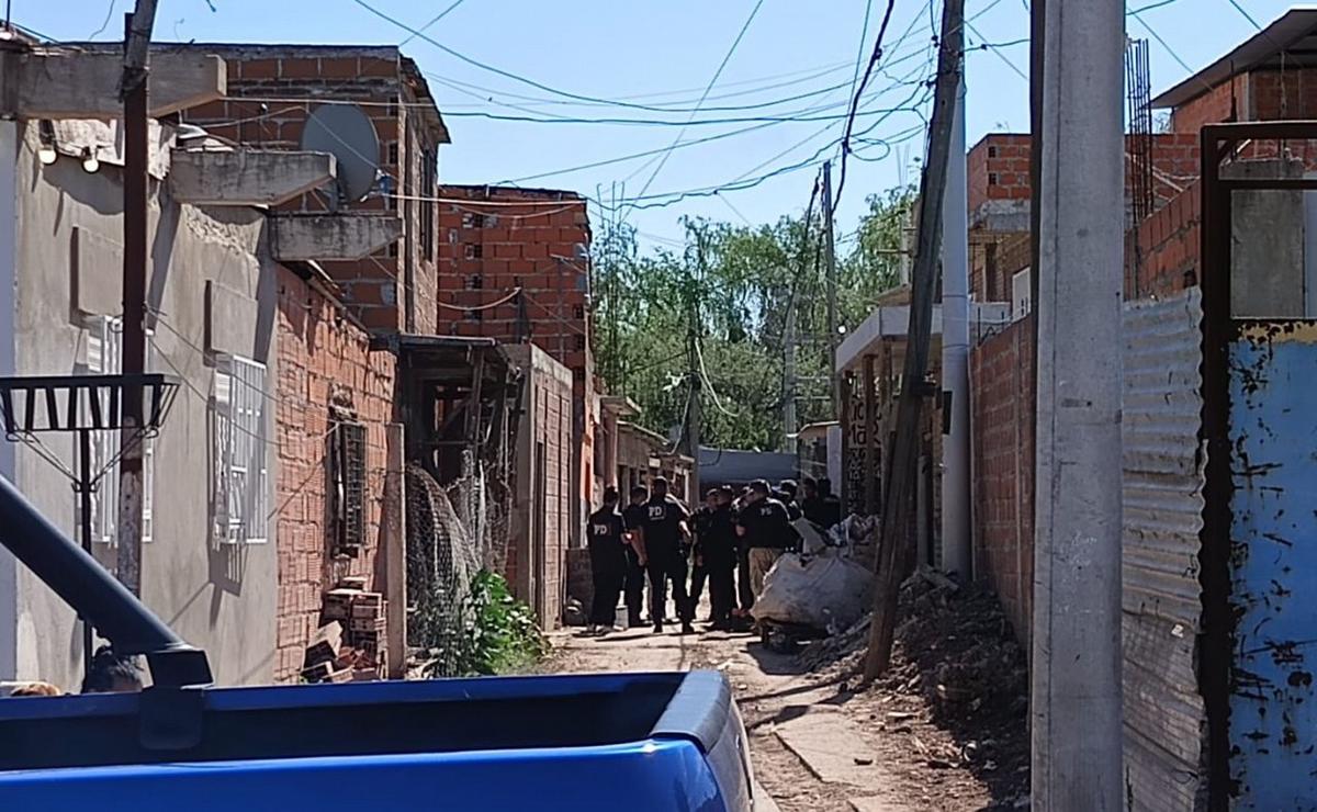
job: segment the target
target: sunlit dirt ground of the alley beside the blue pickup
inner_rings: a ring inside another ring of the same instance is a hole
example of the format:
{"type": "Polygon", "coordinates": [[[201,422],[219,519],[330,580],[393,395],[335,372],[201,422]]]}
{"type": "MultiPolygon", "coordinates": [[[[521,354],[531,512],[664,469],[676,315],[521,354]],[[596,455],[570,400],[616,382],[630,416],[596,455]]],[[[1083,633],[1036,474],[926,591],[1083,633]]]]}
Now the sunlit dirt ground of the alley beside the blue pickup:
{"type": "MultiPolygon", "coordinates": [[[[553,637],[549,670],[565,672],[716,669],[727,675],[749,733],[755,776],[782,812],[1010,809],[994,798],[967,745],[932,724],[922,699],[881,686],[853,692],[844,659],[806,672],[795,655],[735,633],[648,629],[553,637]]],[[[989,762],[988,770],[997,770],[989,762]]],[[[1006,795],[1010,795],[1006,792],[1006,795]]]]}

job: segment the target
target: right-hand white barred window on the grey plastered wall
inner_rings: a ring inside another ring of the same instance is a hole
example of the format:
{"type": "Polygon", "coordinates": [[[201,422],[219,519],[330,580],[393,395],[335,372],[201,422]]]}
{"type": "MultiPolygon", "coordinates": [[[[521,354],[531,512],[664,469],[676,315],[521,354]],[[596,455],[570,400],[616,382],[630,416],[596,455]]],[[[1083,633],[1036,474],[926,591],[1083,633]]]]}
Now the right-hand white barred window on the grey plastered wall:
{"type": "Polygon", "coordinates": [[[265,390],[263,363],[238,355],[216,358],[212,474],[215,536],[221,544],[269,540],[265,390]]]}

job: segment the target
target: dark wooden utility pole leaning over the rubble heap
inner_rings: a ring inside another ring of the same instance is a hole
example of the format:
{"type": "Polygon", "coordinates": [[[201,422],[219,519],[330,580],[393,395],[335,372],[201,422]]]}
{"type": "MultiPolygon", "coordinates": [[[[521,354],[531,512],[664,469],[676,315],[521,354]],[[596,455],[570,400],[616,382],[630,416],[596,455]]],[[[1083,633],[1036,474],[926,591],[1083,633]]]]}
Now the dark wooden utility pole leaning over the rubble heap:
{"type": "Polygon", "coordinates": [[[873,619],[869,624],[869,650],[864,679],[873,680],[892,661],[897,597],[901,590],[902,561],[910,536],[910,487],[918,475],[921,437],[921,391],[928,371],[928,345],[932,337],[932,297],[938,282],[942,249],[942,201],[946,195],[947,166],[951,158],[951,128],[956,93],[964,66],[964,0],[947,0],[942,9],[942,42],[938,51],[938,83],[934,88],[932,118],[928,124],[928,159],[919,184],[919,240],[910,291],[909,346],[901,395],[897,401],[896,440],[892,465],[884,482],[882,536],[877,561],[877,587],[873,591],[873,619]]]}

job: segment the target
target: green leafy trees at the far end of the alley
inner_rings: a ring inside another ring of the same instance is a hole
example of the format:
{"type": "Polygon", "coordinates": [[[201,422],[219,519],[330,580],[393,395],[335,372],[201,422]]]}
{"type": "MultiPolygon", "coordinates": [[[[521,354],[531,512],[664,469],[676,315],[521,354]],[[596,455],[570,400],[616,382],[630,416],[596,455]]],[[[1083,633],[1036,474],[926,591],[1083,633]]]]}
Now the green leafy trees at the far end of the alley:
{"type": "MultiPolygon", "coordinates": [[[[838,312],[853,329],[898,279],[901,228],[914,193],[869,197],[839,246],[838,312]],[[849,247],[848,247],[849,246],[849,247]]],[[[666,433],[685,422],[690,391],[687,329],[698,313],[705,408],[702,437],[738,449],[781,447],[784,333],[797,309],[801,424],[832,417],[828,403],[822,217],[735,226],[687,220],[684,250],[641,254],[630,226],[605,224],[595,241],[595,347],[608,390],[644,409],[640,422],[666,433]]]]}

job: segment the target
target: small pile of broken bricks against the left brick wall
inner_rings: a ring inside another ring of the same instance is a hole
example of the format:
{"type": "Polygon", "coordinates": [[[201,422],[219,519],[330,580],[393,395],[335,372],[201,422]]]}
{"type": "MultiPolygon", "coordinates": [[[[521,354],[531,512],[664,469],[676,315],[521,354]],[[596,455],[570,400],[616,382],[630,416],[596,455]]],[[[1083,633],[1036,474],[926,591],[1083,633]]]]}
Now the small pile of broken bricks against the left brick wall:
{"type": "Polygon", "coordinates": [[[302,663],[306,682],[361,682],[386,675],[385,597],[365,578],[345,578],[325,592],[320,628],[302,663]]]}

